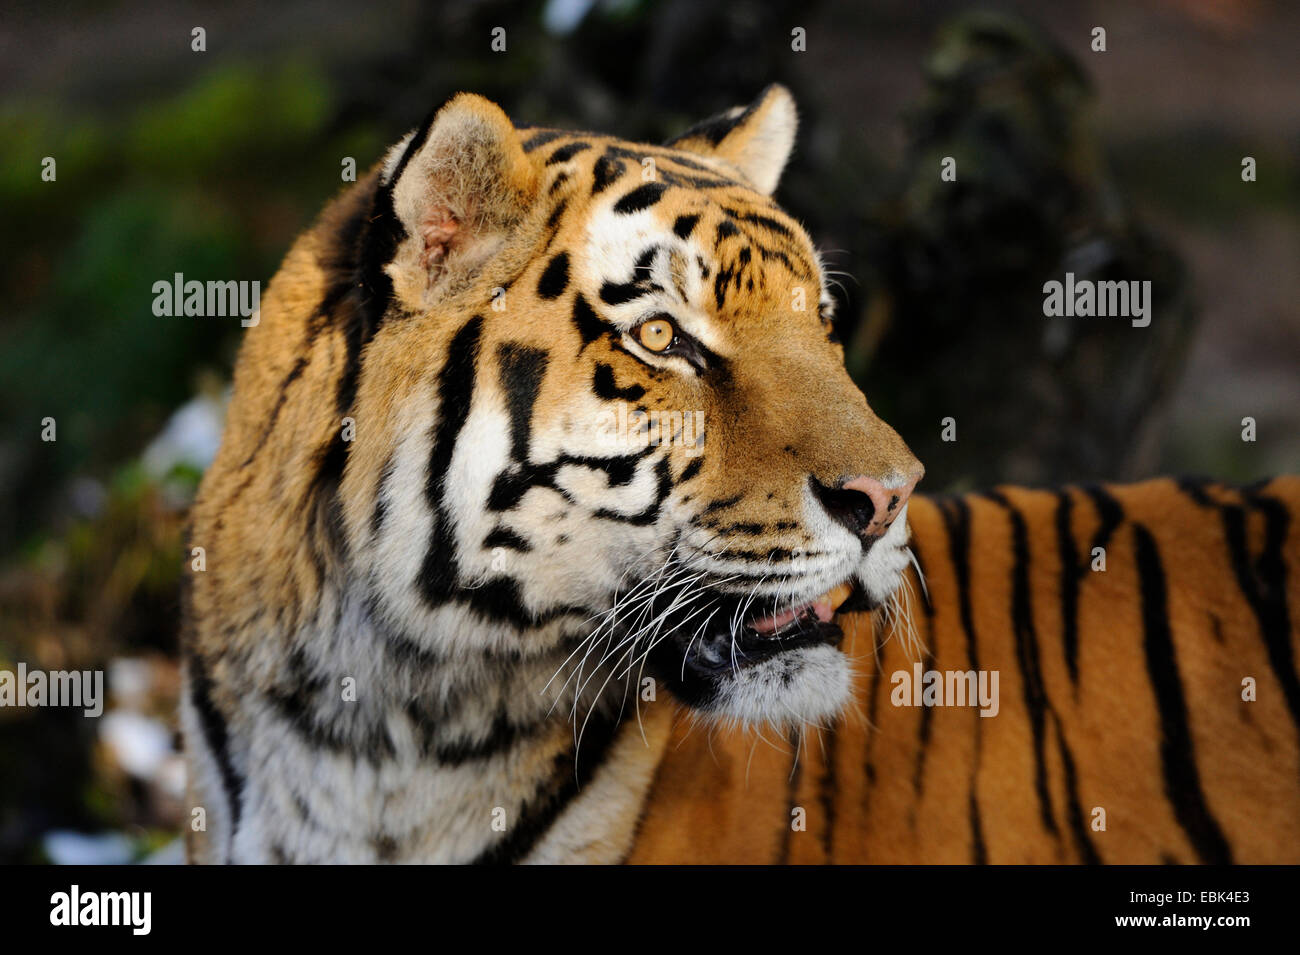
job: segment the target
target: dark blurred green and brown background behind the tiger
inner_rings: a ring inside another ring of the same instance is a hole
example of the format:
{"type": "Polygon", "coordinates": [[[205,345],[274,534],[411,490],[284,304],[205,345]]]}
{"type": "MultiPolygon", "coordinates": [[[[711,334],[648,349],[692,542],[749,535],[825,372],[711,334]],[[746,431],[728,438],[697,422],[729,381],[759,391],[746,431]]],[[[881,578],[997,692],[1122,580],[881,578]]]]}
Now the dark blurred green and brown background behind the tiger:
{"type": "Polygon", "coordinates": [[[103,669],[110,699],[0,708],[0,861],[179,858],[182,529],[240,327],[152,286],[265,285],[344,157],[458,90],[659,142],[783,82],[779,199],[922,490],[1252,481],[1300,470],[1297,48],[1282,0],[8,3],[0,669],[103,669]],[[1150,326],[1044,318],[1067,270],[1150,281],[1150,326]]]}

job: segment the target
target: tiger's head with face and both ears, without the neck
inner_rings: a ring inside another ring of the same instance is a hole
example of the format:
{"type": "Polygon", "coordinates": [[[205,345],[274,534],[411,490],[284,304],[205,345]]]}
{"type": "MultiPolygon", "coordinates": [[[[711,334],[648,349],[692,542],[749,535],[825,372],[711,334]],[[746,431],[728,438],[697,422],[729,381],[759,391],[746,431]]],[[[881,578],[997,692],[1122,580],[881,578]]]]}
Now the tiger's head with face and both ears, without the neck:
{"type": "Polygon", "coordinates": [[[794,129],[781,87],[666,147],[460,95],[394,147],[342,483],[386,628],[560,655],[577,695],[651,674],[746,724],[844,706],[833,615],[898,586],[923,469],[770,197],[794,129]]]}

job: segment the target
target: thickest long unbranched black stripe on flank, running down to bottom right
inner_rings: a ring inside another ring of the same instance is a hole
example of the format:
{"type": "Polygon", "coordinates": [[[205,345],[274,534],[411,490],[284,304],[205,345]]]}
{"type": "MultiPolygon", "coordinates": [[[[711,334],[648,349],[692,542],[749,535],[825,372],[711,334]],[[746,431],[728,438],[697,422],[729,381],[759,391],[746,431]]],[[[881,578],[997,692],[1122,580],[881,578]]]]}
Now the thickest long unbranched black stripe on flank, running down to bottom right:
{"type": "Polygon", "coordinates": [[[1196,772],[1191,728],[1187,724],[1187,702],[1178,673],[1174,639],[1169,630],[1169,608],[1165,592],[1165,569],[1160,563],[1156,542],[1140,524],[1134,525],[1134,556],[1141,590],[1143,650],[1156,706],[1160,709],[1160,755],[1165,769],[1165,795],[1174,815],[1187,833],[1202,863],[1231,864],[1228,848],[1218,822],[1210,815],[1196,772]]]}

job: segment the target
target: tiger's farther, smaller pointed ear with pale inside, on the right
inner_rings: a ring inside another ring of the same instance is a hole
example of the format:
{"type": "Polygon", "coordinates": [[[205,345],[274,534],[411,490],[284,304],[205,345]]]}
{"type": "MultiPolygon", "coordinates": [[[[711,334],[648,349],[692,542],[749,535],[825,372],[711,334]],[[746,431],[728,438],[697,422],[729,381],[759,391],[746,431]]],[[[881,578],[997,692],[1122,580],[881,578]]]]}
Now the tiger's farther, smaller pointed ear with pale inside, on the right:
{"type": "Polygon", "coordinates": [[[774,83],[748,107],[733,107],[705,120],[668,146],[724,160],[754,183],[754,188],[770,196],[790,157],[798,125],[794,97],[784,86],[774,83]]]}

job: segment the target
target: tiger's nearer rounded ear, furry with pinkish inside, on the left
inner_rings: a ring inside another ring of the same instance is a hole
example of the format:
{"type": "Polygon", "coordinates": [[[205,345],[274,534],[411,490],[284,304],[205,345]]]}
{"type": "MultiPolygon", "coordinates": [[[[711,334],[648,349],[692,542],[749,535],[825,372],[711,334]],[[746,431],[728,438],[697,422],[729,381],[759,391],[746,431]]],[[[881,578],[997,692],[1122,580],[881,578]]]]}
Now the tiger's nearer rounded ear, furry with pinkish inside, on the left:
{"type": "Polygon", "coordinates": [[[537,195],[537,170],[514,123],[459,94],[385,160],[382,183],[404,227],[387,272],[412,305],[463,287],[506,242],[537,195]]]}

